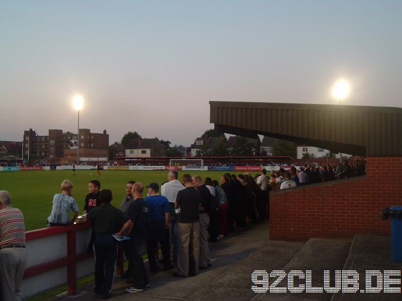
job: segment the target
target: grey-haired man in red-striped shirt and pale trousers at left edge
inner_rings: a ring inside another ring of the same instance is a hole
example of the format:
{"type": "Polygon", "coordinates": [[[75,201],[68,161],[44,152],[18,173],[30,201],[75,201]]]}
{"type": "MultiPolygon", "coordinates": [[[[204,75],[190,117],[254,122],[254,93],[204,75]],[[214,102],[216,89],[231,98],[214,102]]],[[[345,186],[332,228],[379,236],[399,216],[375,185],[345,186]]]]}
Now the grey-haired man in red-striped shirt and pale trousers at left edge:
{"type": "Polygon", "coordinates": [[[20,285],[28,254],[24,215],[13,208],[8,191],[0,191],[0,291],[3,300],[22,300],[20,285]]]}

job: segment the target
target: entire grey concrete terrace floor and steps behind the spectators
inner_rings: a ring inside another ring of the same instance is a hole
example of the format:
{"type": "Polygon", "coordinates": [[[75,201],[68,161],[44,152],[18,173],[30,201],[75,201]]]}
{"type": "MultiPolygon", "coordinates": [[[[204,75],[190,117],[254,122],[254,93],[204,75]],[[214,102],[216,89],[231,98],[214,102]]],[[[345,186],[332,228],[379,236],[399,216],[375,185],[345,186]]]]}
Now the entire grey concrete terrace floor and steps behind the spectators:
{"type": "MultiPolygon", "coordinates": [[[[126,293],[124,279],[115,275],[110,300],[400,300],[400,293],[255,293],[251,274],[254,270],[312,270],[313,286],[323,287],[323,270],[356,270],[360,288],[364,288],[365,270],[400,270],[401,262],[393,262],[388,236],[356,235],[353,239],[312,238],[307,242],[269,240],[268,221],[236,229],[236,233],[218,243],[210,243],[212,267],[200,270],[195,277],[174,278],[172,272],[148,273],[150,288],[126,293]]],[[[148,262],[145,265],[149,272],[148,262]]],[[[400,279],[400,276],[398,277],[400,279]]],[[[269,278],[270,284],[274,278],[269,278]]],[[[305,281],[305,280],[303,280],[305,281]]],[[[300,282],[305,283],[305,282],[300,282]]],[[[295,283],[296,284],[296,283],[295,283]]],[[[286,278],[279,287],[286,287],[286,278]]],[[[92,292],[93,283],[78,287],[78,294],[62,293],[51,300],[99,300],[92,292]]],[[[396,284],[401,287],[401,284],[396,284]]]]}

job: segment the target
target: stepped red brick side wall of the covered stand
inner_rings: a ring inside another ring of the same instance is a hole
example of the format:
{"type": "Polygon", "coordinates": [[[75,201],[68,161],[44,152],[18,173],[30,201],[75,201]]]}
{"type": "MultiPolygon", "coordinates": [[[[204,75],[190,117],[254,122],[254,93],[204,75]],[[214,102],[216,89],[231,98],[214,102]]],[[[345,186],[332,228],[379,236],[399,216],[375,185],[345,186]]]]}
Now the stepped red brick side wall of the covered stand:
{"type": "Polygon", "coordinates": [[[389,235],[381,211],[402,205],[402,156],[367,157],[367,176],[270,194],[272,240],[389,235]]]}

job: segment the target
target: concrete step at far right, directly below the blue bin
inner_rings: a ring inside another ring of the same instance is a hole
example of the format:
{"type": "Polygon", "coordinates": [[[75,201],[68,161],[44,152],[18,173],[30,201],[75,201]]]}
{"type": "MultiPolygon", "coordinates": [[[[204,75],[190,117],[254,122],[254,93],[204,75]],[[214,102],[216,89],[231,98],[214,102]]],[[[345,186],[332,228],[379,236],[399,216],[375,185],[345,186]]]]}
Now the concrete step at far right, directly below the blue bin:
{"type": "MultiPolygon", "coordinates": [[[[344,270],[355,270],[359,274],[359,290],[365,290],[366,270],[402,270],[402,262],[392,261],[391,239],[384,235],[356,235],[350,248],[349,256],[343,267],[344,270]]],[[[395,278],[401,279],[401,276],[395,278]]],[[[402,287],[401,283],[393,286],[402,287]]],[[[400,291],[400,290],[399,290],[400,291]]],[[[331,301],[355,300],[401,300],[401,292],[395,293],[335,293],[331,301]]]]}

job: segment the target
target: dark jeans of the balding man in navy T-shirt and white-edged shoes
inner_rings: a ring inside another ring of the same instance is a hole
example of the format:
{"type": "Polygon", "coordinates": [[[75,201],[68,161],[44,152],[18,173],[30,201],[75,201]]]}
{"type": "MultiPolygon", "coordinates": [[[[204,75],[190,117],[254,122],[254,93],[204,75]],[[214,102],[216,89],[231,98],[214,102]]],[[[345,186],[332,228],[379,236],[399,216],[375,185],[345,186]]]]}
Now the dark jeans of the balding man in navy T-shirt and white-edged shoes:
{"type": "Polygon", "coordinates": [[[145,288],[145,285],[149,284],[149,280],[145,270],[144,260],[141,257],[141,245],[143,240],[132,237],[129,242],[126,257],[129,260],[130,267],[132,267],[132,276],[135,281],[134,287],[145,288]]]}

